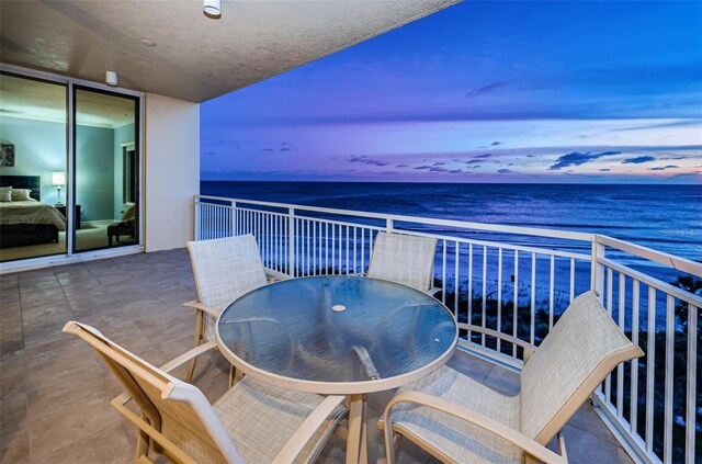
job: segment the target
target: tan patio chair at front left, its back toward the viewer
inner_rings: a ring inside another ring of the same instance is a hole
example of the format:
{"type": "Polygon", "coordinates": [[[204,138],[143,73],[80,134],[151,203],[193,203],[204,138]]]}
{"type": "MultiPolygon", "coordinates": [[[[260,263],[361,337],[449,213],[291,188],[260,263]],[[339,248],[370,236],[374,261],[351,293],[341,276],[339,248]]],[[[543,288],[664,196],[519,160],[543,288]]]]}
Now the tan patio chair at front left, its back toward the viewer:
{"type": "Polygon", "coordinates": [[[125,388],[111,404],[139,429],[139,464],[154,463],[155,453],[188,464],[314,462],[348,412],[343,396],[286,391],[250,376],[212,405],[168,373],[204,346],[158,369],[90,326],[70,321],[64,332],[87,341],[125,388]]]}

